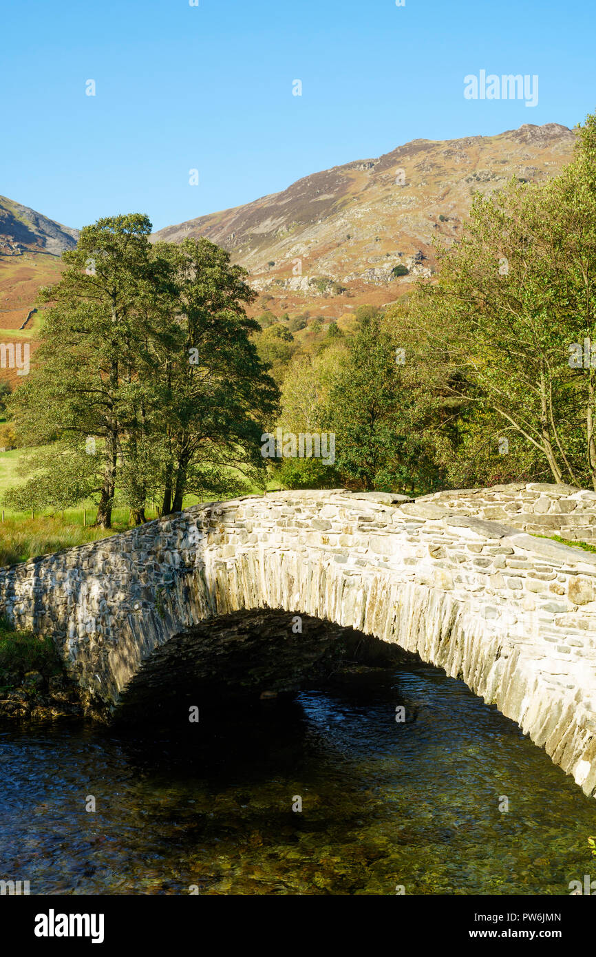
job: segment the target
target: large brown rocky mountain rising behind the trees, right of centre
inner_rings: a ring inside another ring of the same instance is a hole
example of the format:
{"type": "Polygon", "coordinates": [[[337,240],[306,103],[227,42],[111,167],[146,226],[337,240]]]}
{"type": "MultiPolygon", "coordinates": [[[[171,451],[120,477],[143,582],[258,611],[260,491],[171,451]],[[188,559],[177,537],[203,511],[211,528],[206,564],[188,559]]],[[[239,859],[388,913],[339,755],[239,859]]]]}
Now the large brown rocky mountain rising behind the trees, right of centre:
{"type": "Polygon", "coordinates": [[[407,292],[412,278],[431,275],[433,237],[450,242],[461,234],[475,190],[556,175],[574,139],[559,123],[525,123],[497,136],[413,140],[153,238],[206,236],[223,246],[266,294],[261,307],[271,298],[290,310],[324,298],[320,307],[336,313],[358,300],[381,304],[407,292]],[[408,275],[395,278],[397,266],[408,275]]]}

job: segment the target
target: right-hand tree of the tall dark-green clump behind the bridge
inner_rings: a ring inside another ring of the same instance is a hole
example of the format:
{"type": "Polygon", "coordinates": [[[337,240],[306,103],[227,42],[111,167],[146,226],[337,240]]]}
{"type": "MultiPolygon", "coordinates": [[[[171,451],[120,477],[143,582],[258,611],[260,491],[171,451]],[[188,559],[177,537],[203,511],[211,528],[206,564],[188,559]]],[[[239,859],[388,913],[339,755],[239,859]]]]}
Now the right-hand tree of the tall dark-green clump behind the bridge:
{"type": "Polygon", "coordinates": [[[248,491],[231,470],[262,474],[261,418],[276,411],[278,391],[251,339],[258,323],[244,310],[255,296],[246,271],[205,238],[158,243],[154,255],[165,260],[157,272],[169,269],[171,289],[153,324],[147,317],[143,455],[162,482],[166,514],[179,511],[188,492],[248,491]]]}

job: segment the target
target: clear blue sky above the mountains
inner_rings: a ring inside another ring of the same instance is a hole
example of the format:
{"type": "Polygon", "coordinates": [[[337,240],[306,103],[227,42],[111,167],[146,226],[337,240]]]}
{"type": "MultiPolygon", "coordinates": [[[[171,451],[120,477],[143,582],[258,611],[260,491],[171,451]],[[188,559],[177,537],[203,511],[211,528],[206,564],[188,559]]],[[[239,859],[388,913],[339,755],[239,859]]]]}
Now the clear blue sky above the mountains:
{"type": "Polygon", "coordinates": [[[142,211],[160,229],[409,140],[596,109],[593,0],[198,2],[5,6],[0,193],[68,226],[142,211]],[[538,75],[538,105],[466,100],[483,69],[538,75]]]}

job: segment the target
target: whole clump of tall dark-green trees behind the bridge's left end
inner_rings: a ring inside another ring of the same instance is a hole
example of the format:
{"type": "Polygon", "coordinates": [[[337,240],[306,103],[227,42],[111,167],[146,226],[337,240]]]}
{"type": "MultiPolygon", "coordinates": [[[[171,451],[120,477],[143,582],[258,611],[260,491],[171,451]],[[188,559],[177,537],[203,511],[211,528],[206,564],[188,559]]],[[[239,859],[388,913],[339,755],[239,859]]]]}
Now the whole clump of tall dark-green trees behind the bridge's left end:
{"type": "Polygon", "coordinates": [[[246,272],[207,239],[151,245],[150,231],[138,215],[83,229],[45,294],[41,362],[11,398],[29,444],[55,443],[29,493],[60,505],[97,495],[105,527],[117,483],[137,523],[158,495],[168,513],[188,492],[247,491],[243,476],[263,473],[259,418],[276,411],[246,272]]]}

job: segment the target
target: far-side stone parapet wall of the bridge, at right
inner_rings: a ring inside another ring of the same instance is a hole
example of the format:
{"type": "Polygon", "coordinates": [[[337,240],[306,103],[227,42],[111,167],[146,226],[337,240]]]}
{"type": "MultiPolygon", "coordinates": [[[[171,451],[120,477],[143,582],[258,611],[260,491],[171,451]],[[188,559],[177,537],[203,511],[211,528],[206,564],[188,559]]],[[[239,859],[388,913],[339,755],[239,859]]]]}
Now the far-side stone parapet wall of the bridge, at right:
{"type": "Polygon", "coordinates": [[[492,488],[435,492],[416,501],[434,501],[458,514],[506,522],[535,535],[596,542],[596,492],[572,485],[514,482],[492,488]]]}

